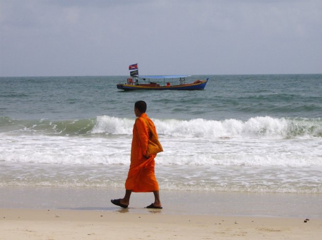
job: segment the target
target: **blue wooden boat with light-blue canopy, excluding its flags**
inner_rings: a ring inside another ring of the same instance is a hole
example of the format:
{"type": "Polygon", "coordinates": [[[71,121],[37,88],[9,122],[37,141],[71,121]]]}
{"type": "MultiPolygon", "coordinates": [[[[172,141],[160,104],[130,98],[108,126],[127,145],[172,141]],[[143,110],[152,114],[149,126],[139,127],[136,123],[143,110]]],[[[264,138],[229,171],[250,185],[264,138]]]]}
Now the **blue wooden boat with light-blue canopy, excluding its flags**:
{"type": "Polygon", "coordinates": [[[192,83],[186,83],[186,78],[190,75],[169,75],[169,76],[133,76],[128,78],[125,84],[117,84],[121,90],[203,90],[208,82],[205,80],[196,80],[192,83]],[[173,81],[179,81],[173,84],[173,81]]]}

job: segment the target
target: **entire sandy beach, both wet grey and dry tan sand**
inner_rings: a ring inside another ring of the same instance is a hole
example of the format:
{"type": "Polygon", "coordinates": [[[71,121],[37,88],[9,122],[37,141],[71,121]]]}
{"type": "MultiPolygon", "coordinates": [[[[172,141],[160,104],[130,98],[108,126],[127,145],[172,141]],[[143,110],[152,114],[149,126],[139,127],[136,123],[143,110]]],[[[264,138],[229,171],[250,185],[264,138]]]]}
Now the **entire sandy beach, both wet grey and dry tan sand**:
{"type": "Polygon", "coordinates": [[[123,189],[2,187],[0,239],[320,239],[320,195],[163,191],[109,202],[123,189]],[[309,219],[309,220],[306,220],[309,219]],[[307,222],[304,222],[304,221],[307,222]]]}

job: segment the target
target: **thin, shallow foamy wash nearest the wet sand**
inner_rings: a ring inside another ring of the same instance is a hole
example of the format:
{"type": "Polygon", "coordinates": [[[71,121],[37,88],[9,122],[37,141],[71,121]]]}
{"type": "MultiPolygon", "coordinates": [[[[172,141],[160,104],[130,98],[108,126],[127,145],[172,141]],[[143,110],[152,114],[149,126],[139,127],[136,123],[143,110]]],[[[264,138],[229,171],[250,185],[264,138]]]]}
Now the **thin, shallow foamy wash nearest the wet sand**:
{"type": "MultiPolygon", "coordinates": [[[[128,166],[0,162],[0,186],[123,188],[128,166]]],[[[322,167],[156,164],[162,190],[322,194],[322,167]]]]}

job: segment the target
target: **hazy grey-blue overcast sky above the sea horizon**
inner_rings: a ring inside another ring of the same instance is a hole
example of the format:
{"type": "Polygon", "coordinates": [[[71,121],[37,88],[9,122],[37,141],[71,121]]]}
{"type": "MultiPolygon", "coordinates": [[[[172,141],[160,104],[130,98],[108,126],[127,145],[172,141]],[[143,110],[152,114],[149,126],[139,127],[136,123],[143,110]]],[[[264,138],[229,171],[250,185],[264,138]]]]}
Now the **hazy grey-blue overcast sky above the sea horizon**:
{"type": "Polygon", "coordinates": [[[322,73],[322,0],[0,0],[0,76],[322,73]]]}

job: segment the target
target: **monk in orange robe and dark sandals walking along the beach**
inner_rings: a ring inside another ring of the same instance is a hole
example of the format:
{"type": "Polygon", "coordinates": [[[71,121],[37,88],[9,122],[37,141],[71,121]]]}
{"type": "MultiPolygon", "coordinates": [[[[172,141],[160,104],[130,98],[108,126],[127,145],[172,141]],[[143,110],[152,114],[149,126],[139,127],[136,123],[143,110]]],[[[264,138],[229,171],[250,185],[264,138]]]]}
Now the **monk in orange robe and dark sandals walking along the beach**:
{"type": "MultiPolygon", "coordinates": [[[[154,175],[154,158],[156,154],[147,156],[152,148],[148,146],[148,140],[157,134],[152,120],[145,113],[147,104],[144,101],[137,101],[134,104],[134,113],[137,117],[133,126],[133,138],[131,146],[131,163],[127,179],[125,181],[125,196],[122,199],[113,199],[111,203],[127,208],[130,203],[131,193],[153,192],[154,203],[146,208],[162,209],[159,198],[159,186],[154,175]]],[[[157,140],[158,142],[158,140],[157,140]]],[[[162,147],[160,146],[162,150],[162,147]]]]}

